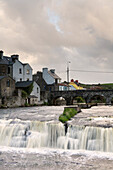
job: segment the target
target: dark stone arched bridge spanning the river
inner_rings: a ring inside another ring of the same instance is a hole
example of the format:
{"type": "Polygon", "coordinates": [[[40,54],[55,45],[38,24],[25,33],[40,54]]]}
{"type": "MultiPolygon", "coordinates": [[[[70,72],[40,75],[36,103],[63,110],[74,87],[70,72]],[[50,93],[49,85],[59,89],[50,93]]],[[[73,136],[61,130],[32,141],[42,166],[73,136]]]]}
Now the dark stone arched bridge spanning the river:
{"type": "Polygon", "coordinates": [[[51,91],[48,94],[49,104],[54,104],[55,100],[63,97],[67,105],[73,104],[76,97],[82,97],[86,103],[90,103],[94,96],[103,97],[106,104],[111,104],[113,98],[113,90],[75,90],[75,91],[51,91]]]}

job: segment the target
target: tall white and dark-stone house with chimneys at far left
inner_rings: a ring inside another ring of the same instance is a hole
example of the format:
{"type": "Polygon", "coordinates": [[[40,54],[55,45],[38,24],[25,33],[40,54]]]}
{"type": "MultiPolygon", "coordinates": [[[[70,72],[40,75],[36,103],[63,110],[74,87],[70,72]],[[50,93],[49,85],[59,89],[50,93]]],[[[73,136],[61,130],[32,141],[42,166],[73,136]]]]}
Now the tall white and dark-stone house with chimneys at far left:
{"type": "Polygon", "coordinates": [[[7,57],[0,51],[0,75],[9,75],[17,81],[32,81],[32,68],[19,61],[19,55],[7,57]]]}

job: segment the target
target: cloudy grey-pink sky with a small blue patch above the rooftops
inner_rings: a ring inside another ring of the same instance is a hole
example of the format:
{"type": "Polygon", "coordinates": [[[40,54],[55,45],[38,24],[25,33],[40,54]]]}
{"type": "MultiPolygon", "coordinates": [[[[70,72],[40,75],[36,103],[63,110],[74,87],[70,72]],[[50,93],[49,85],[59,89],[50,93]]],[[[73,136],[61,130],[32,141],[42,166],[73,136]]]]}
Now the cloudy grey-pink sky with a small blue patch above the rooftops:
{"type": "Polygon", "coordinates": [[[70,79],[112,83],[113,0],[0,0],[0,49],[33,73],[48,67],[64,81],[69,65],[70,79]]]}

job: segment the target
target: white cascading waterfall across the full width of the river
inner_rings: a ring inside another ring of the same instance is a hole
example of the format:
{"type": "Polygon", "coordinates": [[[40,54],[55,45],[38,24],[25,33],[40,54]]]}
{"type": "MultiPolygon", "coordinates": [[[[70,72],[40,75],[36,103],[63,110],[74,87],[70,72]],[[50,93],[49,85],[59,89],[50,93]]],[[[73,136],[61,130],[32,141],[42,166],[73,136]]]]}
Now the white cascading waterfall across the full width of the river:
{"type": "Polygon", "coordinates": [[[113,128],[69,125],[65,134],[60,122],[0,120],[0,146],[113,152],[113,128]]]}

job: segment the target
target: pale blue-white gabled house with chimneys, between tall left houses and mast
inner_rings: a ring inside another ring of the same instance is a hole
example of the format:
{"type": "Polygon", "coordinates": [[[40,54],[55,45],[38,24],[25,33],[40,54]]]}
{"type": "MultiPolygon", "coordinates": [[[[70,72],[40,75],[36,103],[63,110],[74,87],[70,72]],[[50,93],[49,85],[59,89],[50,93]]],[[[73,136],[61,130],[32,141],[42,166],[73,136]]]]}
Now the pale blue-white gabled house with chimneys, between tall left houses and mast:
{"type": "Polygon", "coordinates": [[[48,68],[43,68],[42,71],[43,79],[48,85],[60,83],[61,78],[56,75],[55,69],[48,70],[48,68]]]}

